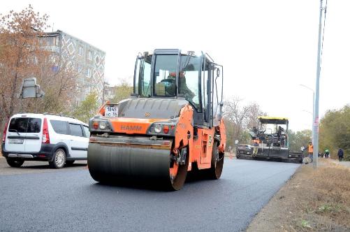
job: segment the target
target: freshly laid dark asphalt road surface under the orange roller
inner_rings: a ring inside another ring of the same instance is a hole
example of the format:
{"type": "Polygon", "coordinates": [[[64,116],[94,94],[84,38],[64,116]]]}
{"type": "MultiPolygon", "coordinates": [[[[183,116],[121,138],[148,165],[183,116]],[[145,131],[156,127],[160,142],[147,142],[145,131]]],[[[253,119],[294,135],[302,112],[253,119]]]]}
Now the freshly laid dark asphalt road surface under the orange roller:
{"type": "Polygon", "coordinates": [[[220,180],[173,192],[99,184],[79,165],[0,175],[0,231],[244,231],[299,165],[225,159],[220,180]]]}

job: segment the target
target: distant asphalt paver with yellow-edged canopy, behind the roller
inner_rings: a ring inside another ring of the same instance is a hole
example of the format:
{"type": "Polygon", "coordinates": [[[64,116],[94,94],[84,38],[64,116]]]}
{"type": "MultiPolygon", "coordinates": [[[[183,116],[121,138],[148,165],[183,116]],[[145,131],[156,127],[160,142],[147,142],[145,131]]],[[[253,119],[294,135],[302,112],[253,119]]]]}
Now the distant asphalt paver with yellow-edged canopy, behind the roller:
{"type": "Polygon", "coordinates": [[[291,152],[289,150],[288,118],[259,116],[258,122],[258,127],[254,126],[249,131],[251,140],[254,142],[237,145],[237,159],[302,163],[302,152],[291,152]],[[254,143],[257,147],[255,154],[254,143]]]}

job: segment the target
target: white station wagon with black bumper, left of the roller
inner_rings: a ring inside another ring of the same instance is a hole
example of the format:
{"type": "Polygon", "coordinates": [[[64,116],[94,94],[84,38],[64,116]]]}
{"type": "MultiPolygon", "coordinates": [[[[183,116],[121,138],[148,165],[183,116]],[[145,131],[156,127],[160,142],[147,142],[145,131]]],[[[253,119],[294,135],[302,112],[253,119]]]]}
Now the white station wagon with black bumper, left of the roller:
{"type": "Polygon", "coordinates": [[[50,114],[17,114],[3,130],[2,154],[8,165],[24,161],[48,161],[62,168],[75,160],[87,160],[89,126],[72,117],[50,114]]]}

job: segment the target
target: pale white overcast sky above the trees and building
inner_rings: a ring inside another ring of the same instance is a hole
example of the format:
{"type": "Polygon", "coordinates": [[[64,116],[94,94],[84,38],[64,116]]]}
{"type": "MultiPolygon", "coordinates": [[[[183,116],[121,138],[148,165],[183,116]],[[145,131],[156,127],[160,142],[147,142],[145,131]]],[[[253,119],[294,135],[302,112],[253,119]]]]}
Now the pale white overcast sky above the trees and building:
{"type": "MultiPolygon", "coordinates": [[[[0,13],[31,3],[53,29],[106,52],[105,79],[131,78],[138,52],[203,50],[224,65],[224,95],[255,101],[271,116],[311,129],[319,0],[1,1],[0,13]]],[[[350,1],[329,0],[320,115],[350,103],[350,1]]]]}

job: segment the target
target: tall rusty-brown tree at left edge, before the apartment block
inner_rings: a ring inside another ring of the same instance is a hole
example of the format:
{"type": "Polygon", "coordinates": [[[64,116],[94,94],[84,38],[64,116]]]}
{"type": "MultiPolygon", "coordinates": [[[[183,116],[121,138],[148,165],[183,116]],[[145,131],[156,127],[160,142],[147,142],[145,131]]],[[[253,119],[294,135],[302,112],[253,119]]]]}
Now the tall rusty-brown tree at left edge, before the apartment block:
{"type": "Polygon", "coordinates": [[[38,71],[37,57],[48,55],[37,39],[48,28],[48,15],[40,16],[29,5],[20,13],[11,10],[0,17],[0,94],[4,100],[3,110],[9,117],[19,104],[16,93],[22,79],[38,71]]]}

